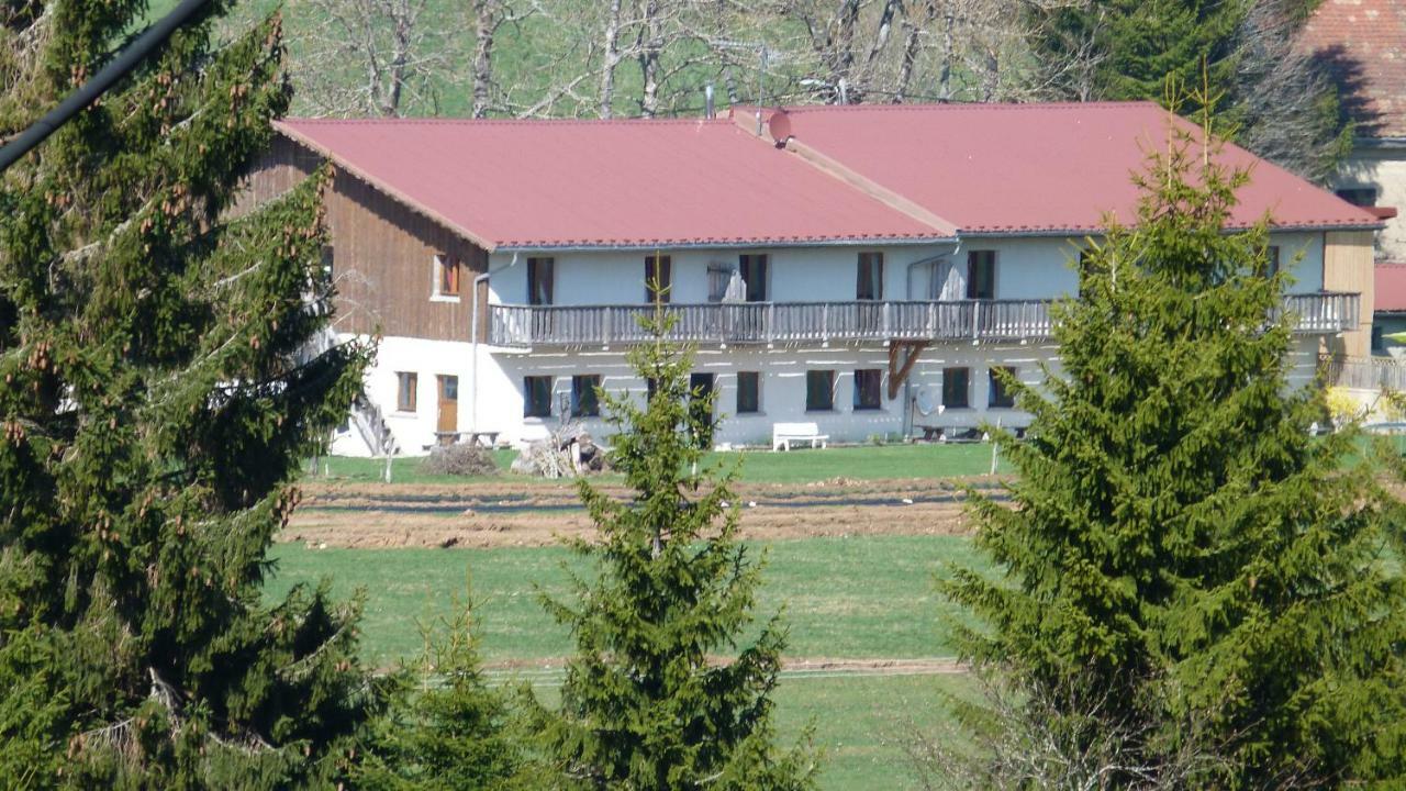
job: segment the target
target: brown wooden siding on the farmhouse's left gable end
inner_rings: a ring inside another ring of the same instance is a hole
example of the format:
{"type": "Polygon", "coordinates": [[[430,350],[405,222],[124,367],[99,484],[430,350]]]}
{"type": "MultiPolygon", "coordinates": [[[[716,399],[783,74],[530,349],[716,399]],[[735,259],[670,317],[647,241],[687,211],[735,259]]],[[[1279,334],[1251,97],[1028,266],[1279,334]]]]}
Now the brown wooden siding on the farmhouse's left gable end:
{"type": "MultiPolygon", "coordinates": [[[[233,211],[247,211],[285,193],[321,162],[315,152],[277,137],[273,149],[249,175],[233,211]]],[[[488,267],[482,249],[343,170],[333,172],[326,218],[339,332],[472,339],[472,283],[488,267]],[[430,298],[437,253],[449,253],[463,266],[458,301],[430,298]]],[[[486,289],[481,290],[479,310],[484,325],[486,289]]]]}

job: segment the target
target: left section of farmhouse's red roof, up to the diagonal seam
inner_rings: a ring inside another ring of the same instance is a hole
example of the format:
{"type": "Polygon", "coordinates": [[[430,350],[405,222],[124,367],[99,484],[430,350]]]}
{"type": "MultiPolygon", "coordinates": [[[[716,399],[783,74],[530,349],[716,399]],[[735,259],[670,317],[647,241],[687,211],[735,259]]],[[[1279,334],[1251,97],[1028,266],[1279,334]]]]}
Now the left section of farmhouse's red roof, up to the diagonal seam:
{"type": "Polygon", "coordinates": [[[727,120],[288,120],[278,128],[485,249],[952,238],[727,120]]]}

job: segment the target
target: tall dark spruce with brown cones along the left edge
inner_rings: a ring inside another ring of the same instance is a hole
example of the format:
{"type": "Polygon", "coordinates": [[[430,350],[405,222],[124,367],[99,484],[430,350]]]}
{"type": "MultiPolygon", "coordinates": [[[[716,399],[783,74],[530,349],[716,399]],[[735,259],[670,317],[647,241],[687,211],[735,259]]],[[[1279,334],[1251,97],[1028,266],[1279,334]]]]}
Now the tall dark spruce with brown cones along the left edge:
{"type": "MultiPolygon", "coordinates": [[[[0,182],[0,766],[31,787],[326,785],[364,718],[356,605],[262,601],[298,462],[366,350],[309,342],[330,281],[311,179],[232,218],[290,91],[277,18],[211,0],[0,182]],[[27,702],[28,701],[28,702],[27,702]]],[[[18,3],[8,137],[141,27],[18,3]]]]}

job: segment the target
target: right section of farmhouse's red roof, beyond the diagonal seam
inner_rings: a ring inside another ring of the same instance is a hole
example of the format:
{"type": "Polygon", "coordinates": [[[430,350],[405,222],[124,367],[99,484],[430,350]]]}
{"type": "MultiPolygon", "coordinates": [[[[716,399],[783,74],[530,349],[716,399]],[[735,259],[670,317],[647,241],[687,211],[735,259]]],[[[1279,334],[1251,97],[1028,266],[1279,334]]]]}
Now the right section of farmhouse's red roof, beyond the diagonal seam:
{"type": "MultiPolygon", "coordinates": [[[[748,111],[738,111],[747,115],[748,111]]],[[[1087,232],[1104,214],[1135,220],[1147,151],[1167,141],[1153,103],[901,104],[786,108],[789,132],[876,184],[952,221],[963,234],[1087,232]]],[[[747,115],[751,118],[752,115],[747,115]]],[[[1181,118],[1173,122],[1195,131],[1181,118]]],[[[1268,210],[1282,228],[1376,228],[1379,220],[1227,145],[1222,162],[1253,166],[1233,221],[1268,210]]]]}

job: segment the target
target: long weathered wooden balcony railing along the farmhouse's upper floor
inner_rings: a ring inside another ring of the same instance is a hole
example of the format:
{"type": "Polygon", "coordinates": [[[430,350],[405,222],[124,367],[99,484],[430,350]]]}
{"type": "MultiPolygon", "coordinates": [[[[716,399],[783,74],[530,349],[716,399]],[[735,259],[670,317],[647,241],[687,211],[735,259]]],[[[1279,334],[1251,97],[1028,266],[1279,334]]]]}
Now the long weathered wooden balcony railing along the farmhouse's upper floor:
{"type": "MultiPolygon", "coordinates": [[[[852,341],[1040,341],[1049,300],[671,304],[669,338],[693,343],[828,343],[852,341]]],[[[491,305],[494,346],[612,346],[648,339],[651,305],[491,305]]],[[[1357,327],[1358,296],[1291,294],[1295,332],[1331,335],[1357,327]]]]}

